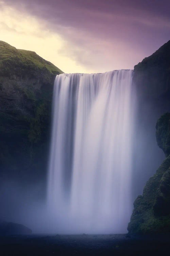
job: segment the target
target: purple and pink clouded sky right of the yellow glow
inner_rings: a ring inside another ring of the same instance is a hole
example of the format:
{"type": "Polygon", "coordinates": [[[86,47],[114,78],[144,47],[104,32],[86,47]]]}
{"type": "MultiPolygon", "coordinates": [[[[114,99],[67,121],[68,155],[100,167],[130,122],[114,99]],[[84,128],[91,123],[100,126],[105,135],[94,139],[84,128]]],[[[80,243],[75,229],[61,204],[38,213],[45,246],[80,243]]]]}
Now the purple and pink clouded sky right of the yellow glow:
{"type": "MultiPolygon", "coordinates": [[[[5,0],[65,40],[91,72],[133,68],[170,40],[170,0],[5,0]]],[[[58,65],[60,68],[60,65],[58,65]]]]}

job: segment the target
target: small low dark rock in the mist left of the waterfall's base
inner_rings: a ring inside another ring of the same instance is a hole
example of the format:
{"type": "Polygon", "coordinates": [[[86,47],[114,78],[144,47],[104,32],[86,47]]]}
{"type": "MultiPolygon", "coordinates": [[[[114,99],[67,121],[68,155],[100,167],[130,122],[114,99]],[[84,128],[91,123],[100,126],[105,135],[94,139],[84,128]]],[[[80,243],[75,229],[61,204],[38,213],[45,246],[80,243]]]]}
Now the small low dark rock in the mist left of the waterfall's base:
{"type": "Polygon", "coordinates": [[[0,236],[18,235],[18,234],[31,234],[32,230],[24,225],[13,222],[0,223],[0,236]]]}

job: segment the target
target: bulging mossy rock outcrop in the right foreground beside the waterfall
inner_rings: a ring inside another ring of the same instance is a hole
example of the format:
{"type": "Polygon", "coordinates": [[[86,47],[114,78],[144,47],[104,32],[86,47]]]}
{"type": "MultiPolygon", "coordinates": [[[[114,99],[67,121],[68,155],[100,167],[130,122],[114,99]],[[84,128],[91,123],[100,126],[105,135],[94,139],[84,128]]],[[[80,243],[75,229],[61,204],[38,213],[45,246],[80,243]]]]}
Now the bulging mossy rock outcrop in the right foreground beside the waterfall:
{"type": "Polygon", "coordinates": [[[170,113],[158,119],[156,139],[167,158],[135,200],[129,233],[170,232],[170,113]]]}

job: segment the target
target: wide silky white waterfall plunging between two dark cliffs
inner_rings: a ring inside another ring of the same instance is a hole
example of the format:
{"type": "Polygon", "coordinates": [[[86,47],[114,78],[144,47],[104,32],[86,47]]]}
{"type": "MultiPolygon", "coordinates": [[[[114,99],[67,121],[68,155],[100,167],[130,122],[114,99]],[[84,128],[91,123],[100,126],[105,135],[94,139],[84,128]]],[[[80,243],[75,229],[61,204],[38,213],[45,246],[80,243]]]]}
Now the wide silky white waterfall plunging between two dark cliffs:
{"type": "Polygon", "coordinates": [[[126,232],[132,210],[132,73],[56,76],[48,208],[58,232],[126,232]]]}

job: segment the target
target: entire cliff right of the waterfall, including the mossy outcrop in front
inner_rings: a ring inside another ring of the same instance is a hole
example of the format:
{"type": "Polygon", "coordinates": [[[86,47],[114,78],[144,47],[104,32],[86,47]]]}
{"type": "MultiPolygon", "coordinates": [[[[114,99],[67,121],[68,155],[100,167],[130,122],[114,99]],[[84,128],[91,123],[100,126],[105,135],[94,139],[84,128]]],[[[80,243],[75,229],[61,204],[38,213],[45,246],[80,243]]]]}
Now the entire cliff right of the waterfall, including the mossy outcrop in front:
{"type": "Polygon", "coordinates": [[[143,195],[135,200],[128,230],[129,233],[169,232],[170,114],[164,113],[170,112],[170,41],[134,67],[133,83],[138,102],[136,144],[142,145],[136,150],[141,161],[136,165],[134,182],[138,177],[149,178],[160,167],[148,180],[143,195]],[[164,161],[156,145],[155,124],[164,161]]]}

